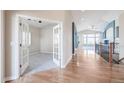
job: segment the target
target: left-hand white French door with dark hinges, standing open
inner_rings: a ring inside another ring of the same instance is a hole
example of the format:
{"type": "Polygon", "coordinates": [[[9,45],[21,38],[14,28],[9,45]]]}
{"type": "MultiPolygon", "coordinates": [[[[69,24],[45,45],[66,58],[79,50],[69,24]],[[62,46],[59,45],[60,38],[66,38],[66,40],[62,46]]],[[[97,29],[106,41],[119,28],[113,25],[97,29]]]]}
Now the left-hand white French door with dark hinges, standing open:
{"type": "Polygon", "coordinates": [[[29,25],[20,20],[19,22],[20,40],[20,73],[24,73],[29,66],[29,25]]]}

